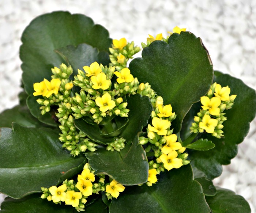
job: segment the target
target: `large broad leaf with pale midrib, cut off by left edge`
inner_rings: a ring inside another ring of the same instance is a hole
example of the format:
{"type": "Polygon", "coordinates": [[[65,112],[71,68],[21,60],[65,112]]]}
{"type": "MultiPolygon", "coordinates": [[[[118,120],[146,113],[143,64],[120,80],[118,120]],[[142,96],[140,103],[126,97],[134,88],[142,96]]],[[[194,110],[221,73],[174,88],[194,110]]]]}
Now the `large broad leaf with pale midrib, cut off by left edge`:
{"type": "Polygon", "coordinates": [[[12,123],[0,129],[0,192],[12,198],[58,185],[83,170],[86,159],[63,150],[56,130],[12,123]]]}

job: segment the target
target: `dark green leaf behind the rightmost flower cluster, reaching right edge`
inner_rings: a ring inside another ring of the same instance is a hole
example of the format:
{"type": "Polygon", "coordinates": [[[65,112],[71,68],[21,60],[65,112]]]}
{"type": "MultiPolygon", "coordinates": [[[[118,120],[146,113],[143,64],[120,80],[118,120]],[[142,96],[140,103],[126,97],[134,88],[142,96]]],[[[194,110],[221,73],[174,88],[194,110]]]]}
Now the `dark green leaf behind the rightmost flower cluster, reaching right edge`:
{"type": "Polygon", "coordinates": [[[222,165],[230,164],[230,160],[237,155],[237,144],[240,144],[248,134],[250,122],[256,113],[255,90],[246,86],[240,79],[227,74],[216,77],[216,82],[222,87],[228,85],[231,89],[230,94],[237,97],[232,109],[224,111],[227,117],[227,121],[223,122],[224,137],[218,139],[210,134],[203,135],[215,144],[215,148],[209,151],[189,152],[192,166],[204,172],[207,179],[221,175],[222,165]]]}

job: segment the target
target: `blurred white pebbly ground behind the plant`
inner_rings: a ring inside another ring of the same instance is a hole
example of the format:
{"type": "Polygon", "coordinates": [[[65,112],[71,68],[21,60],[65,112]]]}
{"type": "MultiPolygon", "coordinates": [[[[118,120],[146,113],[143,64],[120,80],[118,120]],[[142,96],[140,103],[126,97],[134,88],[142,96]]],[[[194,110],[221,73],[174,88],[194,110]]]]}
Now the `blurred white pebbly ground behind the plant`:
{"type": "MultiPolygon", "coordinates": [[[[177,26],[201,37],[214,69],[256,88],[256,0],[0,0],[0,112],[18,104],[22,71],[20,37],[38,15],[56,10],[82,13],[109,30],[110,37],[146,42],[177,26]]],[[[238,156],[215,184],[236,191],[256,209],[256,120],[238,156]]],[[[18,181],[18,180],[17,180],[18,181]]],[[[4,195],[0,194],[0,203],[4,195]]]]}

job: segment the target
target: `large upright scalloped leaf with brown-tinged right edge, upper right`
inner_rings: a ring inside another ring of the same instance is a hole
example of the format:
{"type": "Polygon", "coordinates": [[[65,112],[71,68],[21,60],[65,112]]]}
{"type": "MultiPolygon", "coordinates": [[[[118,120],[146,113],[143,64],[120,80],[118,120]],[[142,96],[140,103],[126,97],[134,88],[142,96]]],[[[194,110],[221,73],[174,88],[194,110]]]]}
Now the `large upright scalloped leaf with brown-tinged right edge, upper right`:
{"type": "Polygon", "coordinates": [[[172,122],[174,132],[192,104],[199,101],[210,88],[213,69],[200,38],[190,32],[173,33],[164,41],[154,41],[142,51],[142,58],[131,61],[129,68],[141,82],[163,97],[164,104],[171,104],[177,118],[172,122]]]}

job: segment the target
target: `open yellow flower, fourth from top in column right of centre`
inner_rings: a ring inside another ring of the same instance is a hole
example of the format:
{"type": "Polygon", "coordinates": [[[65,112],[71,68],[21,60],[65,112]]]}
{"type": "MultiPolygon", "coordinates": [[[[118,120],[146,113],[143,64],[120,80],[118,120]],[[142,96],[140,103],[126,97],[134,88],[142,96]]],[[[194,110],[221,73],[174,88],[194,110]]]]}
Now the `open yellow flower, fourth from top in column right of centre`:
{"type": "Polygon", "coordinates": [[[162,154],[159,158],[163,162],[163,166],[170,171],[173,168],[180,168],[182,166],[182,160],[177,158],[178,153],[173,150],[168,155],[162,154]]]}

